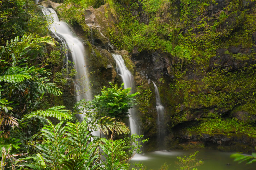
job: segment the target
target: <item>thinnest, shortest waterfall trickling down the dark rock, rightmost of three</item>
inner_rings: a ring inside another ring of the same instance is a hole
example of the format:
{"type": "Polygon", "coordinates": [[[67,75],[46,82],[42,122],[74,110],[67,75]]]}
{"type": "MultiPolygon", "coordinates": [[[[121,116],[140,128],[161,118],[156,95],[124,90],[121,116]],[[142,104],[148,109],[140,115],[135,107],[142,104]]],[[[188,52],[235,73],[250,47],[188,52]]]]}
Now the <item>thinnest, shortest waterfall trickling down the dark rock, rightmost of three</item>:
{"type": "Polygon", "coordinates": [[[161,104],[159,90],[156,84],[153,82],[155,87],[155,94],[156,94],[156,111],[157,111],[157,144],[158,146],[163,146],[164,144],[164,106],[161,104]]]}

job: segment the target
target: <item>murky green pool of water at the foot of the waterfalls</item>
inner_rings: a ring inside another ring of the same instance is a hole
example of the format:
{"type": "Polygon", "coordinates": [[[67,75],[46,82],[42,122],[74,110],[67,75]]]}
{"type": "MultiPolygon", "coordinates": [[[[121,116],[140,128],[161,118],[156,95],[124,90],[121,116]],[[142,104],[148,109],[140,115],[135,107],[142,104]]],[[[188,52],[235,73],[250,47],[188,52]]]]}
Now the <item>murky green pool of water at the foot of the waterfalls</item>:
{"type": "MultiPolygon", "coordinates": [[[[172,151],[157,151],[148,152],[144,154],[135,155],[131,160],[131,168],[134,167],[133,163],[143,163],[147,169],[159,170],[160,167],[166,162],[169,164],[169,170],[179,169],[175,161],[178,161],[177,156],[185,154],[189,156],[190,153],[199,151],[197,159],[204,161],[203,165],[197,166],[198,170],[255,170],[256,163],[245,164],[242,162],[238,164],[234,162],[230,155],[234,152],[221,152],[210,149],[196,149],[196,150],[172,150],[172,151]]],[[[191,169],[192,170],[192,169],[191,169]]]]}

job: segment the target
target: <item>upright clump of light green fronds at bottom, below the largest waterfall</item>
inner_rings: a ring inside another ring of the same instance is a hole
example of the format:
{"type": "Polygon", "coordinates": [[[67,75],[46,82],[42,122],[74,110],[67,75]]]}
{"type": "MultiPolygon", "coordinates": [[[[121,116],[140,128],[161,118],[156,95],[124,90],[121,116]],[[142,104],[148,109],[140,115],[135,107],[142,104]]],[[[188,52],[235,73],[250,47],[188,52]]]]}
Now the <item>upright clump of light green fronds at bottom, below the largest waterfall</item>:
{"type": "Polygon", "coordinates": [[[41,130],[43,142],[36,144],[42,158],[37,164],[50,169],[94,169],[97,165],[97,144],[90,141],[88,124],[60,122],[45,125],[41,130]]]}

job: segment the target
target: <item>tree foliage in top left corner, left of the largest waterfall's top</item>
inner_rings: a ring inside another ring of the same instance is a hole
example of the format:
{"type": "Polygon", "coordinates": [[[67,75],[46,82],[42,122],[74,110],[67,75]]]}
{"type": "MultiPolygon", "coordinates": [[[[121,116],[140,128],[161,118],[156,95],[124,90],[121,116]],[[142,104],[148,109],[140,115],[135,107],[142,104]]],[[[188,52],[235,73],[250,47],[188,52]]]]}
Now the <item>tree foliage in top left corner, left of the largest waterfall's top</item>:
{"type": "Polygon", "coordinates": [[[48,24],[38,5],[30,0],[3,0],[0,4],[0,41],[7,40],[25,33],[45,36],[48,24]]]}

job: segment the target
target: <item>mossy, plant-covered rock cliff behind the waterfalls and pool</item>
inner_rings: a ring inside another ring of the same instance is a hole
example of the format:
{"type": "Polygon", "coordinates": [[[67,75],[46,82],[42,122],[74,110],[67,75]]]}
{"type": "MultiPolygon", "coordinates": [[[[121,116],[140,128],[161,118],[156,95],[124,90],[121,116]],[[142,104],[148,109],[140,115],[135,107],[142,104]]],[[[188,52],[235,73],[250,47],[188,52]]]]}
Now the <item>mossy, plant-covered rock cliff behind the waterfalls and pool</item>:
{"type": "Polygon", "coordinates": [[[128,51],[121,53],[140,92],[138,112],[149,149],[156,147],[154,81],[165,107],[167,148],[253,150],[254,0],[79,2],[64,1],[59,15],[89,41],[96,91],[107,81],[120,82],[109,52],[128,51]]]}

